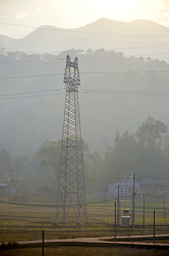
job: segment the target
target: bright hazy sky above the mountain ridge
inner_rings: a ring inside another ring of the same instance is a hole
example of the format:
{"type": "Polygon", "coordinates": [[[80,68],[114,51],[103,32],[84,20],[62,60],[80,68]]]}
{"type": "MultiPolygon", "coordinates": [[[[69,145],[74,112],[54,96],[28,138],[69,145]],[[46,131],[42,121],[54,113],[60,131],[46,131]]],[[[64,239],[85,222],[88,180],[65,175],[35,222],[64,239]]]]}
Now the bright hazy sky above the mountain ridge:
{"type": "Polygon", "coordinates": [[[169,26],[169,0],[0,0],[0,34],[14,38],[34,30],[26,26],[78,28],[98,18],[169,26]]]}

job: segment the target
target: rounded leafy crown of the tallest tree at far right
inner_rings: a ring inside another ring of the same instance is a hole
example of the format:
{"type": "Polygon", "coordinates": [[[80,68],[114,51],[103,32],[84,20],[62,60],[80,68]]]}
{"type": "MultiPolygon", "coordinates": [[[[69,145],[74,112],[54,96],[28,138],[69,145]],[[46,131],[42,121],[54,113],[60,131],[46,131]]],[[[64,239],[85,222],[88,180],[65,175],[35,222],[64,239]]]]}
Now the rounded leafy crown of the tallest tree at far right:
{"type": "Polygon", "coordinates": [[[161,145],[163,137],[168,134],[168,127],[163,122],[148,117],[137,129],[136,137],[146,147],[161,145]]]}

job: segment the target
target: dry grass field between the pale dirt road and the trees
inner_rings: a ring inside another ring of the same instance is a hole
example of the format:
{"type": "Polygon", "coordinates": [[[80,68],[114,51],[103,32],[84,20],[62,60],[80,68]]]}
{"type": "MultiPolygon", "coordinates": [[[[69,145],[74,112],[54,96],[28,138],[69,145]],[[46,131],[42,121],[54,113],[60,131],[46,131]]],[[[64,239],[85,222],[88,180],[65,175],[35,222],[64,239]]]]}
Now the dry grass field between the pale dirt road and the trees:
{"type": "MultiPolygon", "coordinates": [[[[7,199],[6,199],[7,200],[7,199]]],[[[9,198],[10,200],[10,198],[9,198]]],[[[73,215],[67,220],[66,226],[60,225],[53,229],[55,208],[54,202],[45,198],[18,198],[17,203],[41,206],[21,206],[14,204],[0,203],[0,242],[16,242],[18,240],[41,240],[42,230],[45,230],[45,239],[57,238],[79,238],[113,236],[114,231],[114,201],[103,203],[91,203],[88,205],[88,218],[91,227],[84,225],[79,230],[76,228],[76,220],[73,215]],[[44,205],[44,206],[42,206],[44,205]],[[74,223],[73,223],[74,221],[74,223]]],[[[96,199],[95,199],[96,200],[96,199]]],[[[100,200],[100,199],[99,199],[100,200]]],[[[146,226],[141,226],[143,220],[142,198],[136,198],[136,228],[120,228],[117,235],[148,235],[153,234],[153,208],[156,212],[156,233],[168,233],[169,219],[163,220],[163,201],[152,201],[146,198],[146,226]]],[[[166,216],[168,216],[168,201],[165,202],[166,216]]],[[[82,224],[85,220],[81,220],[82,224]]]]}

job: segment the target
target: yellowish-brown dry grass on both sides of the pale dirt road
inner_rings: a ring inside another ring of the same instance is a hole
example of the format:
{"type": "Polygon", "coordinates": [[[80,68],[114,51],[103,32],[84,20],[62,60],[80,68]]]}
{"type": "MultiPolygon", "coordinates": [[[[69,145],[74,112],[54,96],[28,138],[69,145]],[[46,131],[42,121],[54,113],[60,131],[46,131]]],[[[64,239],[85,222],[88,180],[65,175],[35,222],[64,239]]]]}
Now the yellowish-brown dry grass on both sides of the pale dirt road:
{"type": "MultiPolygon", "coordinates": [[[[9,198],[10,199],[10,198],[9,198]]],[[[98,237],[113,236],[114,230],[114,201],[103,203],[93,203],[88,205],[88,218],[91,222],[90,227],[82,226],[76,228],[76,220],[73,215],[67,220],[65,226],[59,225],[59,228],[52,228],[54,221],[55,208],[54,202],[49,202],[45,198],[20,198],[18,203],[40,204],[44,206],[21,206],[14,204],[0,203],[0,242],[16,242],[18,240],[42,240],[42,230],[45,230],[45,239],[57,238],[80,238],[80,237],[98,237]],[[25,200],[26,199],[26,200],[25,200]]],[[[7,200],[7,199],[6,199],[7,200]]],[[[156,234],[168,233],[169,219],[163,220],[163,202],[148,201],[146,198],[146,226],[141,226],[143,220],[142,198],[136,199],[136,228],[120,228],[117,235],[148,235],[153,234],[153,208],[156,210],[156,234]],[[156,206],[156,207],[155,207],[156,206]]],[[[166,201],[166,216],[168,216],[169,204],[166,201]]],[[[81,220],[82,223],[85,220],[81,220]]],[[[157,240],[156,242],[167,242],[168,240],[157,240]]],[[[143,242],[143,240],[140,240],[143,242]]],[[[146,242],[152,242],[151,239],[146,242]]],[[[27,256],[42,255],[42,248],[28,247],[0,250],[2,256],[27,256]]],[[[45,247],[45,256],[167,256],[168,252],[164,250],[139,250],[130,248],[116,247],[45,247]]]]}

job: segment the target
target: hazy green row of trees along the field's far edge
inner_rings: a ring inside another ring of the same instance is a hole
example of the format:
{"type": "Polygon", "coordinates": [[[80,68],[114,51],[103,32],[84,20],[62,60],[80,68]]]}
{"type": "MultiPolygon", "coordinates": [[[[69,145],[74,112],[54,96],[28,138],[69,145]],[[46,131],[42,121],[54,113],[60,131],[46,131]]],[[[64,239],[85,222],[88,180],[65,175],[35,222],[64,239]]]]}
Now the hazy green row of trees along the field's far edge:
{"type": "MultiPolygon", "coordinates": [[[[0,181],[8,178],[20,184],[22,191],[52,193],[57,188],[61,141],[42,144],[32,156],[12,158],[6,149],[0,151],[0,181]]],[[[135,133],[117,130],[115,141],[102,153],[91,152],[83,141],[83,161],[87,193],[107,191],[107,184],[120,181],[131,172],[136,180],[169,178],[168,127],[148,117],[135,133]],[[113,144],[113,146],[112,146],[113,144]]],[[[18,193],[21,193],[18,189],[18,193]]]]}

